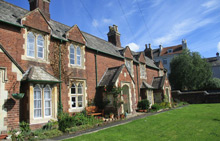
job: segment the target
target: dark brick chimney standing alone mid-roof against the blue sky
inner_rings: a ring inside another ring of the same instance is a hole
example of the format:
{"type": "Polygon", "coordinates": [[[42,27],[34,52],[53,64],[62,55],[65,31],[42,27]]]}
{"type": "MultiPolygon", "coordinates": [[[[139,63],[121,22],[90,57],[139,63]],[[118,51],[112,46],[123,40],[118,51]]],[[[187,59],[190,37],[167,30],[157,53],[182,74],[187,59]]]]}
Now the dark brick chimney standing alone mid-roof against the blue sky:
{"type": "Polygon", "coordinates": [[[118,32],[117,25],[109,26],[109,32],[107,35],[108,35],[108,41],[110,43],[112,43],[117,47],[121,47],[121,41],[120,41],[121,34],[118,32]]]}

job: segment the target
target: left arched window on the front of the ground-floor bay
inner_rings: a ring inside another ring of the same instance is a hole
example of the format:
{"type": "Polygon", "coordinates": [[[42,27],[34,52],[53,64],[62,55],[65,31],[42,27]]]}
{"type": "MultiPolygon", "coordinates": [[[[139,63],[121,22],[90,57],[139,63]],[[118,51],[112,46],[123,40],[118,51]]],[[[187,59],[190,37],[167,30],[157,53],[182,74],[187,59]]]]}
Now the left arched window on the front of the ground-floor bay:
{"type": "Polygon", "coordinates": [[[42,93],[39,85],[34,87],[34,118],[42,117],[42,93]]]}

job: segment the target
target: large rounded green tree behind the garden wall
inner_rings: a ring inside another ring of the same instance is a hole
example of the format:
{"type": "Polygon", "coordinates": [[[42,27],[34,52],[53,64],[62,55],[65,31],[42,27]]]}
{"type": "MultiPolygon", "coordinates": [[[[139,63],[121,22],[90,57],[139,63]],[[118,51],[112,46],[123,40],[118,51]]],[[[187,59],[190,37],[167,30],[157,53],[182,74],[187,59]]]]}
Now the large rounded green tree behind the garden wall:
{"type": "Polygon", "coordinates": [[[172,59],[169,76],[171,85],[179,90],[198,90],[212,78],[210,64],[198,52],[184,50],[172,59]]]}

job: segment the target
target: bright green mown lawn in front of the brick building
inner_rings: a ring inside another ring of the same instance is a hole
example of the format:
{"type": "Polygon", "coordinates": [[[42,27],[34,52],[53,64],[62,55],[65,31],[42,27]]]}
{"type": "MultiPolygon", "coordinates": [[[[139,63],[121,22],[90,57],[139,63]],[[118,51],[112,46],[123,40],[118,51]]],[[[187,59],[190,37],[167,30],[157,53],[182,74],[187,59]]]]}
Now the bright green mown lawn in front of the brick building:
{"type": "Polygon", "coordinates": [[[189,105],[69,140],[219,141],[220,104],[189,105]]]}

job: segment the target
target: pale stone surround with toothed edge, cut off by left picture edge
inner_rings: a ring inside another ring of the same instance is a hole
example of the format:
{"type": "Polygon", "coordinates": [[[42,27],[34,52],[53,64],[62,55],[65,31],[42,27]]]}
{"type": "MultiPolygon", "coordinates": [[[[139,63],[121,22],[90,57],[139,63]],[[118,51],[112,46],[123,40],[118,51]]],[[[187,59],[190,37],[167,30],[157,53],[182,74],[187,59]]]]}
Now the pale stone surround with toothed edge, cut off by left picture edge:
{"type": "Polygon", "coordinates": [[[0,134],[7,130],[4,119],[7,117],[7,110],[4,108],[4,103],[8,97],[8,92],[5,91],[5,70],[0,69],[0,134]]]}

